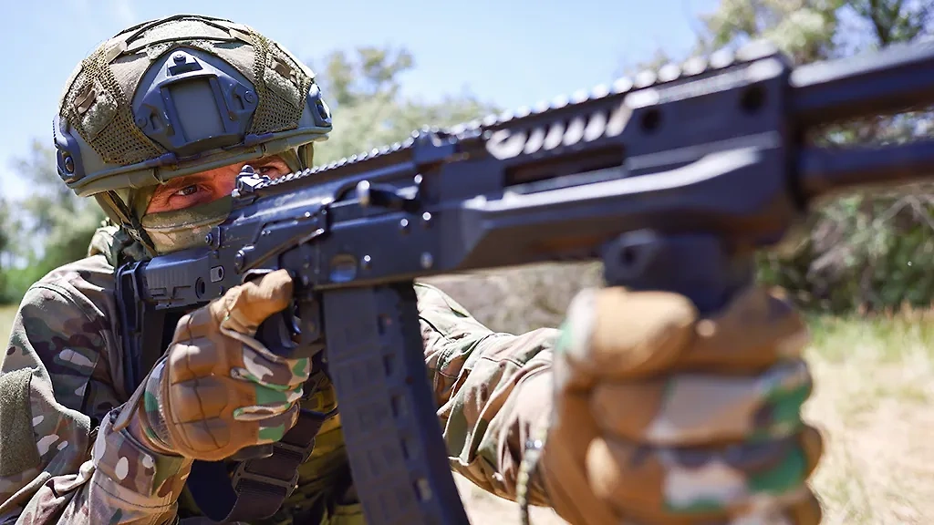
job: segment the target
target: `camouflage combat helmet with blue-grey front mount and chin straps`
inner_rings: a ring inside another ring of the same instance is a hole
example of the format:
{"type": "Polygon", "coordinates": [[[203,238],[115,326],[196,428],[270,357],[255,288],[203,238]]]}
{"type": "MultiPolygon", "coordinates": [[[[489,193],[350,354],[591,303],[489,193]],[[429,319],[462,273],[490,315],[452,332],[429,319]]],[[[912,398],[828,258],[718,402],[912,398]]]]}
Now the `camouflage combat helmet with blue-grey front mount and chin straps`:
{"type": "MultiPolygon", "coordinates": [[[[150,254],[158,250],[141,210],[157,185],[272,154],[292,170],[311,167],[314,142],[331,130],[306,65],[247,25],[198,15],[106,40],[66,82],[53,121],[64,183],[95,197],[150,254]]],[[[204,227],[224,213],[202,211],[168,222],[204,227]]]]}

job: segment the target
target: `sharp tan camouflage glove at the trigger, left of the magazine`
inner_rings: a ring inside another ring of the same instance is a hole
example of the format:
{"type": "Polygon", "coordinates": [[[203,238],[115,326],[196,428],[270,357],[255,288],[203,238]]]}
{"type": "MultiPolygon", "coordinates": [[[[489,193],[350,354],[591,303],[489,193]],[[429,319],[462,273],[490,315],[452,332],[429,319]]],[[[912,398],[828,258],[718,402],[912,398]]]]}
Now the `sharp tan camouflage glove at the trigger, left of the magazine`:
{"type": "Polygon", "coordinates": [[[134,437],[202,461],[278,441],[297,419],[310,360],[280,358],[253,336],[289,305],[291,291],[289,274],[278,270],[180,319],[165,357],[130,400],[134,437]]]}

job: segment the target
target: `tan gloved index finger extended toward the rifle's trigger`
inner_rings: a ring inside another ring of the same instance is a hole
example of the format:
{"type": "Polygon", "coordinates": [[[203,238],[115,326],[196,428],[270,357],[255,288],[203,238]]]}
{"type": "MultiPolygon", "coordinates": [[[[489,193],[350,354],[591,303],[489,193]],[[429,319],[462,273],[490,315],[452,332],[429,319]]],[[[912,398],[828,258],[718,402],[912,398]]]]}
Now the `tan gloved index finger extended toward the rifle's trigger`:
{"type": "Polygon", "coordinates": [[[220,303],[221,326],[252,335],[263,320],[290,305],[292,279],[287,270],[276,270],[234,287],[220,303]]]}

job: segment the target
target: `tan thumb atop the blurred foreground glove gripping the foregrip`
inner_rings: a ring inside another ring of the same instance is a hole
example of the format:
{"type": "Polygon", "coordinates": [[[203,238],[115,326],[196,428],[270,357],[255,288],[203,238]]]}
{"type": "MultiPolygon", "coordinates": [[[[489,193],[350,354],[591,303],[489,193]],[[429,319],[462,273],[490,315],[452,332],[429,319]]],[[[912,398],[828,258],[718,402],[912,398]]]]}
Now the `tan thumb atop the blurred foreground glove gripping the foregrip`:
{"type": "Polygon", "coordinates": [[[587,330],[588,344],[569,351],[568,360],[597,377],[652,375],[678,360],[692,338],[696,316],[694,305],[676,293],[597,291],[591,301],[569,310],[567,325],[587,330]]]}

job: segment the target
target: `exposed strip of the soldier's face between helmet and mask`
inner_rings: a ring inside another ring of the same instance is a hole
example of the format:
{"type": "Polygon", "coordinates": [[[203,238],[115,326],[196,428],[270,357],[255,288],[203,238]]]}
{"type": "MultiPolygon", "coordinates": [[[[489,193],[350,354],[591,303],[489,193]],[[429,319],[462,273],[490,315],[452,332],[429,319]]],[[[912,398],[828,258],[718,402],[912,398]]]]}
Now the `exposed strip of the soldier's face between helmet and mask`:
{"type": "Polygon", "coordinates": [[[173,178],[158,187],[149,200],[146,213],[177,211],[191,206],[205,205],[233,192],[236,176],[245,164],[253,166],[257,174],[272,178],[289,174],[289,165],[278,155],[263,157],[259,161],[235,163],[185,177],[173,178]]]}

